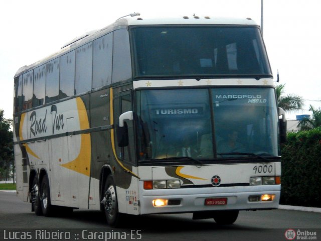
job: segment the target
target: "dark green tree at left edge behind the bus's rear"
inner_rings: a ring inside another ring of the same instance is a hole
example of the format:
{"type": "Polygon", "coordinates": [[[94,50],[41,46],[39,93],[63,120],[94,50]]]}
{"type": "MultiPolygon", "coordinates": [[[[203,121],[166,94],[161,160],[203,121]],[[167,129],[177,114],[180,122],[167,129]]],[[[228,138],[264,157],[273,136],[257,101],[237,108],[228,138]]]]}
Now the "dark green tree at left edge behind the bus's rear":
{"type": "Polygon", "coordinates": [[[4,117],[4,110],[0,109],[0,177],[9,178],[14,166],[12,119],[4,117]]]}

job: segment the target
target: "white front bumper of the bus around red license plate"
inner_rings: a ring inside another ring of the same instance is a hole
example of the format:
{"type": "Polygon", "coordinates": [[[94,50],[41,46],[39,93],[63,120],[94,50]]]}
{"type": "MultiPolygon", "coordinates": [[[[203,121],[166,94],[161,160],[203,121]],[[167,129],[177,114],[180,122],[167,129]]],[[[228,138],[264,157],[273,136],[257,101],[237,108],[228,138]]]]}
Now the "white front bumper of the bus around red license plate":
{"type": "Polygon", "coordinates": [[[191,187],[144,190],[139,185],[140,214],[180,213],[215,210],[257,210],[278,208],[281,185],[238,186],[238,187],[191,187]],[[273,201],[249,201],[249,196],[274,194],[273,201]],[[162,207],[154,207],[154,199],[173,200],[162,207]],[[226,205],[205,205],[206,198],[227,198],[226,205]],[[180,200],[180,201],[178,201],[180,200]]]}

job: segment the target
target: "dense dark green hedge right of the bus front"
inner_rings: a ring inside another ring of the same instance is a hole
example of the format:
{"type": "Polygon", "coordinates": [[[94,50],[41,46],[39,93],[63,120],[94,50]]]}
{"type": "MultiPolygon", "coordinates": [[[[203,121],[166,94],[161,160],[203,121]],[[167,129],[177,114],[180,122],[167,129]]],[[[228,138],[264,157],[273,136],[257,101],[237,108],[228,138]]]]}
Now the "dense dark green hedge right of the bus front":
{"type": "Polygon", "coordinates": [[[321,127],[288,133],[282,146],[281,204],[321,207],[321,127]]]}

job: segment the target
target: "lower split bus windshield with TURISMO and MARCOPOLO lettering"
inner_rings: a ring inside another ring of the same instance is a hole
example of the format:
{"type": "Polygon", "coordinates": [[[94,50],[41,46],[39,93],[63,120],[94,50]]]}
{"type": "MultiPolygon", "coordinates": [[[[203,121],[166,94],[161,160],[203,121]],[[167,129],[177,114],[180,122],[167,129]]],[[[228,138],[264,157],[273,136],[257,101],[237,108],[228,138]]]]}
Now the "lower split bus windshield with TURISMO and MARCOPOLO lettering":
{"type": "Polygon", "coordinates": [[[278,155],[272,88],[140,90],[136,94],[141,161],[278,155]]]}

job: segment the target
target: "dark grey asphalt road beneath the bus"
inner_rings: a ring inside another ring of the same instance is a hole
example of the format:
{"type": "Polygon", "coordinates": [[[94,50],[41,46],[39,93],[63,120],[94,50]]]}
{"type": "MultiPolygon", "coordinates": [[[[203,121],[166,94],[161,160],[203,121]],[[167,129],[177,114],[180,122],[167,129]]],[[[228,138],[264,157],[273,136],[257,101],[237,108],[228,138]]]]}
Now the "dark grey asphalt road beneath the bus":
{"type": "MultiPolygon", "coordinates": [[[[217,225],[213,219],[192,220],[190,213],[162,214],[129,217],[123,228],[111,228],[100,211],[79,209],[74,210],[69,216],[36,216],[31,212],[31,204],[18,199],[16,193],[0,192],[0,228],[2,228],[0,240],[4,240],[2,239],[4,230],[7,230],[8,237],[8,230],[11,228],[70,229],[80,233],[77,235],[85,235],[81,236],[83,239],[72,237],[70,240],[84,240],[84,238],[91,240],[90,231],[97,228],[98,231],[109,232],[111,235],[109,237],[112,239],[125,237],[128,240],[132,237],[155,241],[287,240],[284,233],[292,228],[297,233],[314,231],[316,239],[312,240],[321,240],[321,213],[280,209],[241,211],[233,225],[217,225]]],[[[96,236],[96,240],[98,239],[96,236]]],[[[106,240],[106,237],[103,240],[106,240]]]]}

